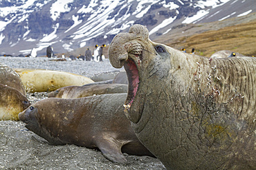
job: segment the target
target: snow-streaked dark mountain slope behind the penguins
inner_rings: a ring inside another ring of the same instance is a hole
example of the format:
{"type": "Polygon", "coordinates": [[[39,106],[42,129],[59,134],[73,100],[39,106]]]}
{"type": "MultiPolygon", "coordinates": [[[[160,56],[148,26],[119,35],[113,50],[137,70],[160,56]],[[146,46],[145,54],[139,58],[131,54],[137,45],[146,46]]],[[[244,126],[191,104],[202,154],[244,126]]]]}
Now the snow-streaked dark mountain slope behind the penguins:
{"type": "Polygon", "coordinates": [[[140,23],[150,38],[181,23],[205,23],[256,12],[255,0],[1,0],[0,55],[45,55],[108,44],[140,23]]]}

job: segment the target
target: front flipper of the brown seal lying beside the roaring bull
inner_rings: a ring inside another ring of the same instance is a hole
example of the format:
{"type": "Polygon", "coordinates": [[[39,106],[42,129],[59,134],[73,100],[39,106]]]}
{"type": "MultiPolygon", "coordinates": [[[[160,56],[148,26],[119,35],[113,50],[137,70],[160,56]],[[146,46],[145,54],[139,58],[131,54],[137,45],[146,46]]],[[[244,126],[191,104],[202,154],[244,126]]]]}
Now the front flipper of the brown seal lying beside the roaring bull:
{"type": "Polygon", "coordinates": [[[97,142],[97,147],[102,152],[103,156],[112,162],[126,162],[127,159],[122,154],[122,144],[115,139],[101,138],[97,142]]]}

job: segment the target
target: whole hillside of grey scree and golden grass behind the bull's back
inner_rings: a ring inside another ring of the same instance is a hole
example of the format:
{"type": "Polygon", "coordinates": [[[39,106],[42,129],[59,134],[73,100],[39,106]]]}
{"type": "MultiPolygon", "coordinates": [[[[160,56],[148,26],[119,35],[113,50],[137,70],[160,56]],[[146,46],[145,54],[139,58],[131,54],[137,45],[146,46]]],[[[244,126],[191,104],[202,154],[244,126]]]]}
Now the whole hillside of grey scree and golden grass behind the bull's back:
{"type": "Polygon", "coordinates": [[[163,36],[160,36],[155,41],[162,40],[161,43],[176,49],[185,48],[187,52],[191,52],[194,47],[196,54],[201,56],[211,56],[219,50],[230,50],[246,56],[256,56],[255,16],[256,14],[253,13],[244,18],[186,25],[181,35],[175,34],[176,31],[173,30],[167,38],[163,39],[163,36]],[[228,26],[221,28],[221,25],[228,26]]]}

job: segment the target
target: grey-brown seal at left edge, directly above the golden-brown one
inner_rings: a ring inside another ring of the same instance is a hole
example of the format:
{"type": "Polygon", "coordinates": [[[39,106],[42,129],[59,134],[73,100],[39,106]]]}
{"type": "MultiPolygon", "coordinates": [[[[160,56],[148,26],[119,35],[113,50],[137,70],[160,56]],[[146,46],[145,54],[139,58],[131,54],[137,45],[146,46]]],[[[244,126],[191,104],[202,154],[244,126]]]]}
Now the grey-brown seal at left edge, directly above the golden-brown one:
{"type": "Polygon", "coordinates": [[[7,65],[0,64],[0,83],[19,90],[21,94],[26,94],[25,87],[21,82],[21,78],[19,78],[19,74],[7,65]]]}

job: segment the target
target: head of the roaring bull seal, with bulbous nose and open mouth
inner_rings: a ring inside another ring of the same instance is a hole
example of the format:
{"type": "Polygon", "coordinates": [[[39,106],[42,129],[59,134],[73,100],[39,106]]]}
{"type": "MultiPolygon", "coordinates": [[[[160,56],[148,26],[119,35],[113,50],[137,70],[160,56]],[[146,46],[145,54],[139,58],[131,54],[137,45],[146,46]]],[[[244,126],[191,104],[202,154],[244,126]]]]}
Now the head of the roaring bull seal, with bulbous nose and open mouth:
{"type": "Polygon", "coordinates": [[[148,79],[156,74],[163,78],[167,76],[163,70],[170,70],[170,52],[167,48],[166,45],[150,41],[149,32],[143,25],[133,25],[128,33],[116,35],[109,46],[111,65],[116,68],[124,66],[127,72],[129,92],[125,113],[133,123],[138,123],[142,116],[145,90],[152,85],[148,79]],[[143,89],[140,88],[142,84],[143,89]]]}

